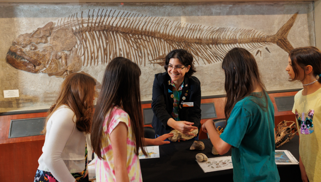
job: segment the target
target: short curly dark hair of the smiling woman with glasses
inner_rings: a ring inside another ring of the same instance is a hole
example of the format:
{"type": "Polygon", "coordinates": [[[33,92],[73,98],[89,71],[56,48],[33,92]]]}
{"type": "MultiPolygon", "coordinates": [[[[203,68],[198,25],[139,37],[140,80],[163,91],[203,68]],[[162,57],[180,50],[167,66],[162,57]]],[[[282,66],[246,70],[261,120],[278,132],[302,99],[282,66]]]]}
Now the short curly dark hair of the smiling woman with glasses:
{"type": "Polygon", "coordinates": [[[191,78],[192,75],[196,72],[195,66],[193,64],[193,55],[184,49],[175,49],[170,51],[165,58],[164,69],[167,72],[167,65],[169,60],[172,58],[178,59],[184,66],[191,66],[189,71],[185,74],[188,78],[191,78]]]}

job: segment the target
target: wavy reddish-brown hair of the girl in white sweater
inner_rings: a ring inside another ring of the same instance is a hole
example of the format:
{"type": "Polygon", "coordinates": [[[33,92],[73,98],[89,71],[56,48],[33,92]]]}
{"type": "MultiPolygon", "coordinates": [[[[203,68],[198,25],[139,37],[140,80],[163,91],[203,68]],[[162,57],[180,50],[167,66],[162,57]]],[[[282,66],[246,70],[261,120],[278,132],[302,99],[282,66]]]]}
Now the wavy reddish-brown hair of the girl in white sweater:
{"type": "Polygon", "coordinates": [[[46,127],[50,116],[61,105],[70,107],[75,113],[76,127],[79,131],[90,133],[95,85],[95,80],[84,74],[73,73],[67,76],[60,87],[58,99],[48,111],[42,133],[46,134],[46,127]]]}

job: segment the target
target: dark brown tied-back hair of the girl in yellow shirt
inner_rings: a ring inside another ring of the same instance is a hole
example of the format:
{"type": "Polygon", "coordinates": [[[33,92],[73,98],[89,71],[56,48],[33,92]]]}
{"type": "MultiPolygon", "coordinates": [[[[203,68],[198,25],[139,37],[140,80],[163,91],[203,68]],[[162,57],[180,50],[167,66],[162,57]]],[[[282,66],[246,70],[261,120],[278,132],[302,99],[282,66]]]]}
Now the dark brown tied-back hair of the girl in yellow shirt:
{"type": "MultiPolygon", "coordinates": [[[[312,66],[313,75],[316,76],[321,74],[321,51],[318,48],[313,46],[299,47],[299,48],[293,49],[289,53],[289,57],[291,59],[292,69],[295,74],[294,80],[296,80],[296,78],[299,77],[298,67],[303,69],[304,78],[307,75],[305,71],[305,67],[308,65],[312,66]]],[[[289,81],[292,82],[294,80],[289,80],[289,81]]],[[[321,83],[321,79],[318,79],[318,82],[321,83]]]]}

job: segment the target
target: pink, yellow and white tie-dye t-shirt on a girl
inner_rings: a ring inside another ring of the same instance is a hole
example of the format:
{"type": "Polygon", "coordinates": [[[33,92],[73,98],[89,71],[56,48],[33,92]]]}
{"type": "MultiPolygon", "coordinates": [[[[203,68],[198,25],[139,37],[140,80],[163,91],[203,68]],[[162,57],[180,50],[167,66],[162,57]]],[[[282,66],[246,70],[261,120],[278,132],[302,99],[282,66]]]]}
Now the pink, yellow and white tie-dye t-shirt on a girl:
{"type": "Polygon", "coordinates": [[[95,154],[96,162],[96,181],[98,182],[115,182],[115,166],[114,155],[111,146],[109,134],[115,129],[119,122],[127,125],[127,172],[129,181],[142,181],[142,173],[140,170],[139,159],[136,155],[135,137],[130,125],[129,115],[119,107],[114,107],[110,113],[108,111],[105,122],[103,124],[103,135],[101,137],[100,151],[103,159],[99,159],[95,154]],[[107,122],[110,117],[110,121],[107,122]],[[108,125],[107,125],[108,123],[108,125]],[[104,139],[106,138],[106,139],[104,139]],[[107,142],[106,142],[107,140],[107,142]],[[104,141],[104,142],[103,142],[104,141]]]}

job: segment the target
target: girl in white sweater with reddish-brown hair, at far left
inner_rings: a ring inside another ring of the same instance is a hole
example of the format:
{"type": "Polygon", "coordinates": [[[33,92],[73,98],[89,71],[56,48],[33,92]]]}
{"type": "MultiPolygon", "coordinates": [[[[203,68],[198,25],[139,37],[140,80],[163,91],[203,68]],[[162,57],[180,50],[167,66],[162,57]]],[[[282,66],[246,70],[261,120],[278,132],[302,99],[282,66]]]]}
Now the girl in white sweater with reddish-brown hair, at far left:
{"type": "Polygon", "coordinates": [[[35,182],[80,182],[87,175],[86,134],[90,133],[95,85],[93,78],[80,73],[63,82],[48,111],[35,182]]]}

